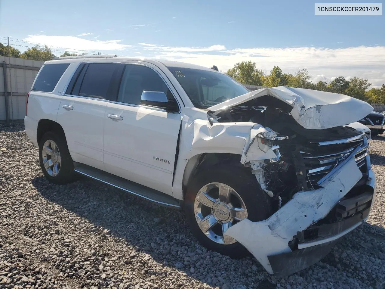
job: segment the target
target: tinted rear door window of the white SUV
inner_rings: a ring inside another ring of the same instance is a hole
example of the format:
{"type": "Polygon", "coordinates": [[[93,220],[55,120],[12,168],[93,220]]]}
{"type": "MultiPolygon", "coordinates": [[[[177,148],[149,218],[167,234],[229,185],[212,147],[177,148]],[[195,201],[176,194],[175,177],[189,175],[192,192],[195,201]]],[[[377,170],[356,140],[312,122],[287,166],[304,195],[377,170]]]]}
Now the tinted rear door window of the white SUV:
{"type": "MultiPolygon", "coordinates": [[[[80,84],[80,96],[95,97],[102,99],[115,100],[115,96],[111,96],[109,93],[112,77],[114,76],[117,65],[114,63],[91,63],[88,64],[83,70],[85,70],[84,78],[78,77],[77,83],[74,86],[77,87],[78,82],[80,84]]],[[[82,72],[80,73],[82,74],[82,72]]]]}

